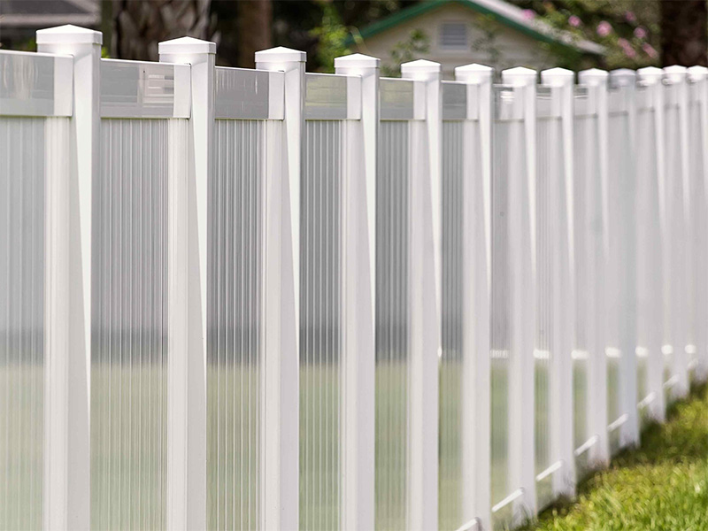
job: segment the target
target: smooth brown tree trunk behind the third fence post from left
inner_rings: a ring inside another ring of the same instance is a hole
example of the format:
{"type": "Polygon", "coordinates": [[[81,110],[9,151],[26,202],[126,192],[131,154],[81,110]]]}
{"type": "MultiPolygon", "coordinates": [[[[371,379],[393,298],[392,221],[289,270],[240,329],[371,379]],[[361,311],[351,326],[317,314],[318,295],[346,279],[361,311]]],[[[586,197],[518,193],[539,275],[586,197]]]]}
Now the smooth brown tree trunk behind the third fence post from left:
{"type": "Polygon", "coordinates": [[[273,46],[273,4],[271,0],[242,0],[238,19],[238,65],[253,68],[254,54],[273,46]]]}

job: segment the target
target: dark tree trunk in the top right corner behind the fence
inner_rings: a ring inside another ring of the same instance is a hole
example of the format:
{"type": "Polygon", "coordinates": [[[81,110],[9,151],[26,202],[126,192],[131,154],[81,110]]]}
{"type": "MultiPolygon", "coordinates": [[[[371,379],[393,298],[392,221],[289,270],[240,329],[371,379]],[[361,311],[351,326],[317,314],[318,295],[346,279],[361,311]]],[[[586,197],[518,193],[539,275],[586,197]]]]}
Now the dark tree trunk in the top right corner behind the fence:
{"type": "Polygon", "coordinates": [[[706,0],[661,0],[661,61],[708,66],[706,0]]]}

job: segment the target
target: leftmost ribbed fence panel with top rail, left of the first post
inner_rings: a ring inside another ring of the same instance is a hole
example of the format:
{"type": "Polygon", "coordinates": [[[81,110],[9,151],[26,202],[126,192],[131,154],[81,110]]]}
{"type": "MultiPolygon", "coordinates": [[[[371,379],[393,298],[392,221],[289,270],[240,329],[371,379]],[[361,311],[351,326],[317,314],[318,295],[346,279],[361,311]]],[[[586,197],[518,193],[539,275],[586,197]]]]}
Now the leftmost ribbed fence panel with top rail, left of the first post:
{"type": "Polygon", "coordinates": [[[72,58],[0,51],[0,528],[42,527],[45,194],[68,174],[72,58]]]}

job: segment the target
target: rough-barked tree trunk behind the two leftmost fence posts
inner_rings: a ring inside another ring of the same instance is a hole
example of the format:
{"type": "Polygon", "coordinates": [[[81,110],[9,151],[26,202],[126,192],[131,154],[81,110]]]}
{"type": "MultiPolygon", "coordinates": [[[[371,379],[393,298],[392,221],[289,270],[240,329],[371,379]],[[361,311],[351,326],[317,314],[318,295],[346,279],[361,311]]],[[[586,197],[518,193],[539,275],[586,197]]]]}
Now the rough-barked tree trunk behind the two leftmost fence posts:
{"type": "Polygon", "coordinates": [[[157,61],[158,42],[184,36],[209,39],[211,2],[113,0],[111,57],[157,61]]]}

